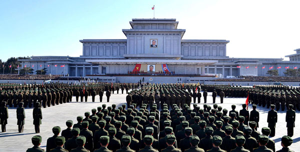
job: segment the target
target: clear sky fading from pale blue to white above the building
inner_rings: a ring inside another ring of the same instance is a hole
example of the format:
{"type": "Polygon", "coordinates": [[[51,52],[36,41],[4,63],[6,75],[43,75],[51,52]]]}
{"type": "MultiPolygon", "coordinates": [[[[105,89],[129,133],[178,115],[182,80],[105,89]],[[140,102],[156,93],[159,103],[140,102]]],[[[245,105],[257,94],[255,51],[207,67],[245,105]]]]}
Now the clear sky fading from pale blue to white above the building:
{"type": "Polygon", "coordinates": [[[126,38],[132,18],[176,18],[183,39],[226,39],[230,57],[300,48],[299,0],[1,0],[0,59],[82,54],[79,39],[126,38]]]}

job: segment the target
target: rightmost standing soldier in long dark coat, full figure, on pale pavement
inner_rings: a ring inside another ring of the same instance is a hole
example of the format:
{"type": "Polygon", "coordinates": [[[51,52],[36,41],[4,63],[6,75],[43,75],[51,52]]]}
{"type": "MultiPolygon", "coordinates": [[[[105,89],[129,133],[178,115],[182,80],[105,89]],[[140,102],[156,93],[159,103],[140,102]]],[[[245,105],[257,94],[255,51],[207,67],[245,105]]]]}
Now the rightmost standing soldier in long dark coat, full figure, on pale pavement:
{"type": "Polygon", "coordinates": [[[293,128],[295,127],[296,114],[295,114],[295,110],[292,109],[293,108],[292,104],[289,104],[288,108],[289,109],[286,111],[286,115],[285,115],[285,122],[287,127],[287,135],[292,137],[293,128]]]}

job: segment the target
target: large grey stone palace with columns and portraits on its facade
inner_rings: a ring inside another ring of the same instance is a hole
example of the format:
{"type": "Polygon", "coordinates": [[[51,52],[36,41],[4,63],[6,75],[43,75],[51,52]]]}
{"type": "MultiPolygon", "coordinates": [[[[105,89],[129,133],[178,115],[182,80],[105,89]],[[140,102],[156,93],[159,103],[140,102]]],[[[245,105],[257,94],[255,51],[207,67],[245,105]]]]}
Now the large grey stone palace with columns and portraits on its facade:
{"type": "Polygon", "coordinates": [[[129,23],[130,29],[122,29],[126,39],[82,39],[79,57],[31,56],[19,59],[20,68],[25,65],[34,70],[46,68],[47,73],[69,76],[128,73],[239,76],[266,75],[269,69],[277,69],[279,75],[284,75],[285,67],[300,67],[300,49],[286,56],[289,61],[235,58],[226,56],[229,40],[182,39],[185,29],[177,28],[176,19],[132,19],[129,23]]]}

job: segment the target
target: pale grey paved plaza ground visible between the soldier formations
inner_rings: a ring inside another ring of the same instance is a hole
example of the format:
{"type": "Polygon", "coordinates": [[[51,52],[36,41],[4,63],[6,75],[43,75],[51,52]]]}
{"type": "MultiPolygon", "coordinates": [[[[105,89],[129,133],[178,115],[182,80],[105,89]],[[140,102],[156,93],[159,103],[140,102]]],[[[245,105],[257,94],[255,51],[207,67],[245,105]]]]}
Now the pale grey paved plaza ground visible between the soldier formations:
{"type": "MultiPolygon", "coordinates": [[[[120,92],[120,91],[119,91],[120,92]]],[[[115,91],[116,93],[116,91],[115,91]]],[[[123,103],[126,103],[125,96],[126,94],[111,94],[110,102],[106,102],[106,96],[103,95],[103,102],[99,102],[99,96],[97,95],[95,98],[95,102],[91,102],[91,96],[88,97],[87,102],[76,102],[75,97],[73,96],[72,102],[63,103],[47,108],[42,108],[42,120],[40,125],[40,133],[34,133],[34,125],[32,124],[32,108],[25,109],[25,125],[24,132],[18,133],[17,125],[16,125],[16,108],[8,109],[8,124],[6,125],[6,132],[0,132],[0,151],[25,151],[27,148],[32,147],[31,137],[33,135],[41,135],[42,142],[41,148],[46,148],[46,140],[48,137],[52,136],[52,127],[60,126],[61,130],[66,128],[65,121],[72,120],[73,123],[76,123],[76,116],[81,115],[84,116],[84,112],[91,112],[92,108],[97,108],[97,106],[101,106],[102,103],[105,103],[107,106],[111,104],[116,104],[116,106],[120,106],[123,103]]],[[[105,93],[104,93],[105,94],[105,93]]],[[[246,98],[224,98],[224,103],[219,104],[223,108],[231,110],[231,104],[236,104],[236,110],[241,109],[241,104],[245,103],[246,98]]],[[[79,98],[80,100],[80,98],[79,98]]],[[[203,108],[203,98],[201,98],[201,103],[199,103],[200,108],[203,108]]],[[[219,97],[216,98],[216,103],[219,103],[219,97]]],[[[207,104],[212,107],[212,97],[211,92],[208,93],[207,96],[207,104]]],[[[106,107],[107,107],[106,106],[106,107]]],[[[192,105],[191,105],[192,108],[192,105]]],[[[249,105],[249,111],[251,111],[251,105],[249,105]]],[[[260,113],[259,120],[259,128],[258,131],[261,131],[261,127],[267,126],[266,118],[267,111],[269,109],[257,107],[257,110],[260,113]]],[[[286,111],[286,110],[285,110],[286,111]]],[[[286,122],[285,122],[285,111],[278,111],[278,121],[276,124],[276,134],[274,137],[271,137],[272,140],[275,141],[276,150],[281,149],[280,139],[283,135],[287,134],[286,131],[286,122]]],[[[294,151],[298,151],[297,148],[300,147],[300,120],[299,111],[296,111],[296,122],[294,127],[294,136],[292,137],[293,143],[290,146],[290,149],[294,151]]]]}

